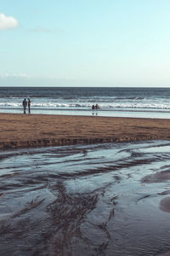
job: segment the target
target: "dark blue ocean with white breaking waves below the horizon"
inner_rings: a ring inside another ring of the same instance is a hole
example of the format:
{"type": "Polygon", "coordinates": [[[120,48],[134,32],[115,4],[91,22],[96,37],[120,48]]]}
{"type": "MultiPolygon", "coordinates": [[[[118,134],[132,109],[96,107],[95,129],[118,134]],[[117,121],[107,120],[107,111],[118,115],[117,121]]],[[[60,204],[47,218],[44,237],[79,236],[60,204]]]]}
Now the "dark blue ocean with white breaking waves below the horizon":
{"type": "Polygon", "coordinates": [[[31,113],[169,118],[170,88],[1,87],[0,112],[22,113],[31,99],[31,113]],[[98,111],[92,105],[99,104],[98,111]]]}

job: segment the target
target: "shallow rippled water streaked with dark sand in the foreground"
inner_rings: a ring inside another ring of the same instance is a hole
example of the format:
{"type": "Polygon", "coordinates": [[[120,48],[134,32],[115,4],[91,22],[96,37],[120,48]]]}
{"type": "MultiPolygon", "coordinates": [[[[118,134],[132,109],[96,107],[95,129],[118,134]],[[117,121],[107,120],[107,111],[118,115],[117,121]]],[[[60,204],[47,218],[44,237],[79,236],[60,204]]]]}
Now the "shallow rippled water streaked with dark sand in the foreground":
{"type": "Polygon", "coordinates": [[[0,154],[1,255],[161,255],[169,212],[169,142],[0,154]]]}

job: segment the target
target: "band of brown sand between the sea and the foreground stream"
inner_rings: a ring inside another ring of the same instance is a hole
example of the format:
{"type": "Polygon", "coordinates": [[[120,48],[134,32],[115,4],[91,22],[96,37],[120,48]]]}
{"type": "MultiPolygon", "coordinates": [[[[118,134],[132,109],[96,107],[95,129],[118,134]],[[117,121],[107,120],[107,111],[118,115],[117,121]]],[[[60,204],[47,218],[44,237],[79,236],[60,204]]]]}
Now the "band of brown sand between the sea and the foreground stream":
{"type": "Polygon", "coordinates": [[[169,140],[170,119],[0,113],[0,149],[169,140]]]}

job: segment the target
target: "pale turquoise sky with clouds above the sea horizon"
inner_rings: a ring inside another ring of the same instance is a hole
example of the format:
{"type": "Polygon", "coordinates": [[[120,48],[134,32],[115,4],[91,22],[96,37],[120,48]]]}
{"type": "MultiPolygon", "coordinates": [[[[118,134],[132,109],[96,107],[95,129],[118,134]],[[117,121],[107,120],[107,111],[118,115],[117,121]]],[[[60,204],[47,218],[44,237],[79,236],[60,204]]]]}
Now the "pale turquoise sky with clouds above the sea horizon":
{"type": "Polygon", "coordinates": [[[0,86],[170,87],[169,0],[0,0],[0,86]]]}

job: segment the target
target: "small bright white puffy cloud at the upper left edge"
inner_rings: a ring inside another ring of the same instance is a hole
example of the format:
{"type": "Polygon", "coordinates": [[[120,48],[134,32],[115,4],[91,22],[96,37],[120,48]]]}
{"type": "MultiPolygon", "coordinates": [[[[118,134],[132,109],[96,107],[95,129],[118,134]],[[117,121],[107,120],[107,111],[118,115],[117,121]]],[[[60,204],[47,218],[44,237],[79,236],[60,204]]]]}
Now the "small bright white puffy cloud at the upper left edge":
{"type": "Polygon", "coordinates": [[[0,30],[6,30],[19,26],[19,21],[12,16],[0,13],[0,30]]]}

